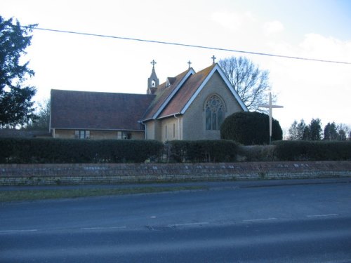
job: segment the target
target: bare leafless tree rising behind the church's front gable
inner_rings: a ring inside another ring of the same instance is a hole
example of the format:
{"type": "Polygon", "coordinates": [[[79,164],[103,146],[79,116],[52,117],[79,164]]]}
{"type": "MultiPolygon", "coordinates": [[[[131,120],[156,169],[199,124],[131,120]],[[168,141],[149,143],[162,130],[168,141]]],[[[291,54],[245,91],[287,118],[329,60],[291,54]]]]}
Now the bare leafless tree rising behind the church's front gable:
{"type": "Polygon", "coordinates": [[[267,102],[265,92],[270,89],[267,70],[259,69],[245,57],[225,58],[218,65],[249,110],[256,111],[259,104],[267,102]]]}

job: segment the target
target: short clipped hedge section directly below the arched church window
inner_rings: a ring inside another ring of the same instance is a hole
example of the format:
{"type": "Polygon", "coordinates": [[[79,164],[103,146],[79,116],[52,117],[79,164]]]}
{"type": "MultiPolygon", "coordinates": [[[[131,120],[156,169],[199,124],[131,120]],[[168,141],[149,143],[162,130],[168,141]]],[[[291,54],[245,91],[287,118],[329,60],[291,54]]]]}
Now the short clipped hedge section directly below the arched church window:
{"type": "Polygon", "coordinates": [[[238,144],[231,140],[173,140],[167,142],[171,161],[207,163],[235,161],[238,144]]]}

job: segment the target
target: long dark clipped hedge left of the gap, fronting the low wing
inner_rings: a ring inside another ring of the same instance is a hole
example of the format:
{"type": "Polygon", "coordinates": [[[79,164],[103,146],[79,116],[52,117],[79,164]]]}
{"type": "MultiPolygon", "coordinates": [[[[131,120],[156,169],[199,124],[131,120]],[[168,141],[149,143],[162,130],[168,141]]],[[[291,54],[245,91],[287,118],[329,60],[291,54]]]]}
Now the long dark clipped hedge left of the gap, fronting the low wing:
{"type": "Polygon", "coordinates": [[[154,140],[1,138],[0,163],[142,163],[158,158],[154,140]]]}

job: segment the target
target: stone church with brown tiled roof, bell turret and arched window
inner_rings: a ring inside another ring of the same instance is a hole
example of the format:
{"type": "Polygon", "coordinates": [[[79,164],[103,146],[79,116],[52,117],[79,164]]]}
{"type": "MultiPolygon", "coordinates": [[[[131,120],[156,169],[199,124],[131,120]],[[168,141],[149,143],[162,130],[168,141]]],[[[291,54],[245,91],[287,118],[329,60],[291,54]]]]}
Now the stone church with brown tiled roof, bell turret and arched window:
{"type": "Polygon", "coordinates": [[[53,137],[218,140],[224,119],[248,109],[214,59],[161,84],[152,60],[146,94],[51,90],[53,137]]]}

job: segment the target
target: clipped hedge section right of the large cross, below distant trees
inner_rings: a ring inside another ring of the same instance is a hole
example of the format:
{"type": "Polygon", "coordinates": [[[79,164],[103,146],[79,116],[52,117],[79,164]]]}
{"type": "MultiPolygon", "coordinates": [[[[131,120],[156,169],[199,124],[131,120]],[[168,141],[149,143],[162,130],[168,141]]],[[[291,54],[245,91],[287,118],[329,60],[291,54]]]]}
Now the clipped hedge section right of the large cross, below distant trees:
{"type": "Polygon", "coordinates": [[[351,142],[280,141],[275,154],[281,161],[351,160],[351,142]]]}

